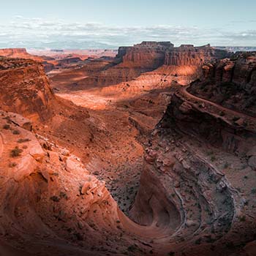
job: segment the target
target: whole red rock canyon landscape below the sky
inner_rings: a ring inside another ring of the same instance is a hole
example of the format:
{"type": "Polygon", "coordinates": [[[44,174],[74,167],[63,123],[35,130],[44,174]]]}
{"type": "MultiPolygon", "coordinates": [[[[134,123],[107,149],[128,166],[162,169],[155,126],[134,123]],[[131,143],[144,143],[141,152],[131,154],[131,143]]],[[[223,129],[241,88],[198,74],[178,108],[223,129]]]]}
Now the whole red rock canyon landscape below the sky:
{"type": "Polygon", "coordinates": [[[255,255],[255,52],[0,56],[0,255],[255,255]]]}

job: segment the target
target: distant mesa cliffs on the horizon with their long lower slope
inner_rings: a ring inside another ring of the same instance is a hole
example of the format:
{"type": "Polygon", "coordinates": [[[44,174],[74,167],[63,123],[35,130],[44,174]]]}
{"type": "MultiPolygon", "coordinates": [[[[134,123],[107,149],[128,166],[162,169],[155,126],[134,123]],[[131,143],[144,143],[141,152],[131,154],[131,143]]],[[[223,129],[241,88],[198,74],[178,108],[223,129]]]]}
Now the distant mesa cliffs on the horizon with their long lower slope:
{"type": "Polygon", "coordinates": [[[119,48],[113,67],[85,78],[75,87],[83,89],[86,86],[109,86],[127,82],[159,67],[165,67],[158,70],[163,73],[170,72],[170,68],[176,67],[200,69],[205,61],[225,56],[228,56],[225,50],[217,50],[210,45],[197,48],[193,45],[181,45],[174,48],[170,42],[142,42],[133,47],[119,48]]]}

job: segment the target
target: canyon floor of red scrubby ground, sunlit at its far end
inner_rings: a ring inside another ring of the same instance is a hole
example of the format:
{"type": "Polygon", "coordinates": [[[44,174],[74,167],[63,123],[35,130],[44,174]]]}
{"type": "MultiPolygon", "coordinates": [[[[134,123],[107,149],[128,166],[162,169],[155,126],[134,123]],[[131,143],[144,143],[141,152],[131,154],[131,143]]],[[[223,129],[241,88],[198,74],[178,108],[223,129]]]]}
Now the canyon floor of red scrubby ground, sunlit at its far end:
{"type": "Polygon", "coordinates": [[[73,91],[66,89],[73,82],[66,72],[58,72],[51,84],[58,88],[56,95],[85,108],[89,121],[102,132],[100,137],[92,135],[89,145],[78,138],[74,152],[88,170],[106,181],[118,206],[129,215],[138,192],[144,147],[177,86],[163,82],[166,75],[148,72],[127,83],[73,91]]]}

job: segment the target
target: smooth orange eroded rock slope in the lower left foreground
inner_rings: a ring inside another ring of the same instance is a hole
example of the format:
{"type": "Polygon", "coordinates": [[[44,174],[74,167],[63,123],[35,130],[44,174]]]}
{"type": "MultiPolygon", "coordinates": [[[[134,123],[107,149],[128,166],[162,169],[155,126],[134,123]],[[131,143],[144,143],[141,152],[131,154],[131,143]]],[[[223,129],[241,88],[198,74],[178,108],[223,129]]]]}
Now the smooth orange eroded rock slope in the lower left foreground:
{"type": "Polygon", "coordinates": [[[102,241],[113,248],[123,214],[105,182],[67,150],[43,150],[47,140],[18,126],[9,113],[0,111],[0,127],[0,243],[32,255],[42,252],[41,242],[48,244],[44,255],[103,255],[108,246],[102,241]],[[94,246],[99,252],[90,252],[94,246]]]}

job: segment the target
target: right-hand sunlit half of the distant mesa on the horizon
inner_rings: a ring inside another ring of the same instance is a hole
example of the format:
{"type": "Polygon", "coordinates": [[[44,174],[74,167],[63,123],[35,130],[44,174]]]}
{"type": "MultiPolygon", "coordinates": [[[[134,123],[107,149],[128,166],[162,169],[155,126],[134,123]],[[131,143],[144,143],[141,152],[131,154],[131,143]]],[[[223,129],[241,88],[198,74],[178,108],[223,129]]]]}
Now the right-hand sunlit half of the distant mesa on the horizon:
{"type": "Polygon", "coordinates": [[[165,55],[165,65],[200,66],[206,61],[222,59],[227,56],[227,51],[212,48],[211,45],[200,47],[194,47],[194,45],[181,45],[178,48],[167,50],[165,55]]]}

